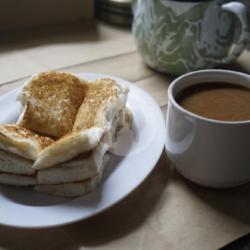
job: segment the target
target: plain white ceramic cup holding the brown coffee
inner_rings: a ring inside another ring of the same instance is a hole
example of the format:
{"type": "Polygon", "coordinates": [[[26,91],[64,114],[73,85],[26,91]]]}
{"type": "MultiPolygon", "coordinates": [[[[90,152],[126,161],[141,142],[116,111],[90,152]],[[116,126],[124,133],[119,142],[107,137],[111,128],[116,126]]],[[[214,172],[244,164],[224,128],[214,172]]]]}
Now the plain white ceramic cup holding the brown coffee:
{"type": "Polygon", "coordinates": [[[183,176],[200,185],[233,187],[246,183],[250,181],[250,120],[213,120],[176,102],[181,90],[206,82],[250,88],[249,75],[227,70],[201,70],[174,80],[168,89],[167,155],[183,176]]]}

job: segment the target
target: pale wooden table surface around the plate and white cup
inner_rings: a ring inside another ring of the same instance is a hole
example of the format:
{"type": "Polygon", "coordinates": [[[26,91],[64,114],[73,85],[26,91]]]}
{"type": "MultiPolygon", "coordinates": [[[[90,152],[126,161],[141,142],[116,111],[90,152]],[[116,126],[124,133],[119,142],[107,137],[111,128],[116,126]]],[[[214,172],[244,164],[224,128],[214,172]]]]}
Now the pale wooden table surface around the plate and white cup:
{"type": "MultiPolygon", "coordinates": [[[[225,68],[249,74],[249,58],[246,50],[225,68]]],[[[173,77],[144,65],[127,29],[85,22],[1,34],[0,95],[50,69],[127,79],[166,113],[173,77]]],[[[150,176],[106,212],[51,229],[0,226],[0,249],[217,249],[250,231],[249,211],[250,184],[199,187],[176,173],[163,152],[150,176]]]]}

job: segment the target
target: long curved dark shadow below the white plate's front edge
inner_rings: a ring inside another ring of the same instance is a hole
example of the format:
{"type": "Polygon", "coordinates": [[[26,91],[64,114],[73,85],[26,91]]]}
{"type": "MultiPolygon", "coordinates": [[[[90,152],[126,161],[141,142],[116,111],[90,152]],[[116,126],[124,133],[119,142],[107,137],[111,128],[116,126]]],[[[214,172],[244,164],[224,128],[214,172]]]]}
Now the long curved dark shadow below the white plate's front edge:
{"type": "Polygon", "coordinates": [[[0,226],[0,248],[79,249],[108,244],[131,234],[145,223],[160,201],[170,177],[166,154],[148,178],[127,198],[93,218],[51,229],[15,229],[0,226]]]}

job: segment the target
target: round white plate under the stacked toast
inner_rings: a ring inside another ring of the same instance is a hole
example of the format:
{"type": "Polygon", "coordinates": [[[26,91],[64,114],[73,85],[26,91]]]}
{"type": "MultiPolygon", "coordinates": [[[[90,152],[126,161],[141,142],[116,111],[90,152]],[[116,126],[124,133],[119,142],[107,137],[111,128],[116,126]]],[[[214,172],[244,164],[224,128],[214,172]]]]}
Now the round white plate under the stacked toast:
{"type": "MultiPolygon", "coordinates": [[[[102,183],[86,196],[75,199],[58,198],[38,194],[31,188],[0,185],[1,224],[41,228],[94,216],[131,193],[148,176],[158,161],[164,146],[165,127],[161,110],[153,98],[134,84],[113,76],[77,76],[88,80],[110,77],[129,86],[128,106],[134,119],[132,143],[129,134],[119,137],[118,149],[108,163],[102,183]],[[126,156],[122,156],[126,147],[126,156]]],[[[14,90],[0,98],[0,123],[16,121],[19,112],[17,92],[18,90],[14,90]]]]}

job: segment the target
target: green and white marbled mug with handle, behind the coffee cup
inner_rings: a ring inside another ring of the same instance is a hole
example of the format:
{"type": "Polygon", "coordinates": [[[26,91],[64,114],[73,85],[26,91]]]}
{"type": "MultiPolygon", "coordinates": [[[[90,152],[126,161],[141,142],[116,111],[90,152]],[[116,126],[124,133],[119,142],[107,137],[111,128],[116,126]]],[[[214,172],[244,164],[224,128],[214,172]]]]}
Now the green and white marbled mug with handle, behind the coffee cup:
{"type": "Polygon", "coordinates": [[[227,64],[250,43],[247,9],[239,2],[137,0],[133,6],[138,51],[161,72],[180,75],[227,64]]]}

